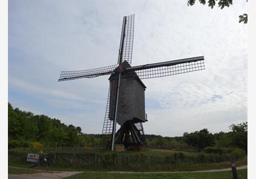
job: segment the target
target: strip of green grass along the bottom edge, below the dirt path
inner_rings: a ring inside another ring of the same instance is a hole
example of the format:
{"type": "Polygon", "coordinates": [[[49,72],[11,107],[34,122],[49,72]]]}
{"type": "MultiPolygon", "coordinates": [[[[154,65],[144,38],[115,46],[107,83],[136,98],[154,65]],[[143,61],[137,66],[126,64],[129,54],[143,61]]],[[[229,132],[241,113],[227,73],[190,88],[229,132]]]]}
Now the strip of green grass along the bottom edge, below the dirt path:
{"type": "MultiPolygon", "coordinates": [[[[205,172],[205,173],[179,173],[179,174],[112,174],[112,173],[92,173],[92,172],[84,172],[81,174],[72,175],[67,177],[67,179],[79,179],[79,178],[90,178],[90,179],[114,179],[114,178],[122,178],[122,179],[155,179],[155,178],[168,178],[168,179],[231,179],[232,173],[231,171],[227,172],[205,172]]],[[[239,179],[247,178],[247,169],[238,171],[239,179]]]]}

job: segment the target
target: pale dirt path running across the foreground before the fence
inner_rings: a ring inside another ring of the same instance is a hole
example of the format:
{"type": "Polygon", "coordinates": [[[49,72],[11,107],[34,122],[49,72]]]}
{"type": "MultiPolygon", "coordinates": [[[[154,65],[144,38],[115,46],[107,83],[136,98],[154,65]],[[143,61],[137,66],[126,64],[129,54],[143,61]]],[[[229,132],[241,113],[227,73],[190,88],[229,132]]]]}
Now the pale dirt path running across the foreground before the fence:
{"type": "MultiPolygon", "coordinates": [[[[12,167],[12,166],[9,166],[12,167]]],[[[16,167],[19,168],[19,167],[16,167]]],[[[21,168],[21,167],[20,167],[21,168]]],[[[240,166],[236,167],[236,169],[247,169],[247,165],[245,166],[240,166]]],[[[196,172],[222,172],[222,171],[230,171],[230,168],[226,169],[216,169],[216,170],[208,170],[208,171],[187,171],[187,172],[122,172],[122,171],[116,171],[116,172],[104,172],[104,173],[117,173],[117,174],[171,174],[171,173],[196,173],[196,172]]],[[[38,174],[8,174],[9,179],[44,179],[44,178],[49,178],[49,179],[59,179],[59,178],[64,178],[64,177],[69,177],[71,175],[79,174],[84,171],[79,171],[79,172],[60,172],[60,171],[51,171],[51,172],[45,172],[45,171],[40,171],[37,170],[38,174]]],[[[99,172],[93,172],[93,173],[99,173],[99,172]]]]}

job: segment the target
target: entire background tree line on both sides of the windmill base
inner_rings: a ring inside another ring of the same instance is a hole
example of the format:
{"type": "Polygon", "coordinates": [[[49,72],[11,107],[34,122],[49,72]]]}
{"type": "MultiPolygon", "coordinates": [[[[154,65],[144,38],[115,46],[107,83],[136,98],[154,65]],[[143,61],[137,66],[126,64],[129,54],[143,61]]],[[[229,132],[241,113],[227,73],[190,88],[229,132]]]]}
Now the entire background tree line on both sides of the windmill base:
{"type": "MultiPolygon", "coordinates": [[[[194,149],[201,151],[207,147],[215,150],[221,147],[237,147],[247,152],[247,122],[232,124],[230,132],[210,133],[208,129],[185,132],[182,137],[162,137],[161,135],[145,135],[148,147],[158,149],[194,149]]],[[[85,147],[97,148],[102,144],[104,135],[86,134],[79,126],[66,125],[60,120],[46,115],[34,115],[13,108],[8,104],[9,148],[29,147],[33,143],[41,143],[45,147],[85,147]]]]}

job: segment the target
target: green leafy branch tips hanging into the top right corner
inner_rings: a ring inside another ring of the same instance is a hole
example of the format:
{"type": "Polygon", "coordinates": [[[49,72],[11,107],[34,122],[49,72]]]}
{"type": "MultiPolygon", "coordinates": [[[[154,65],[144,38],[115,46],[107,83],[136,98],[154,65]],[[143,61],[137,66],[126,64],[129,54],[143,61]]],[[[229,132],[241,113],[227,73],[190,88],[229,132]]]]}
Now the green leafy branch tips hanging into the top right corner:
{"type": "MultiPolygon", "coordinates": [[[[215,7],[216,1],[218,1],[218,0],[208,0],[208,6],[211,8],[215,7]]],[[[195,2],[196,2],[196,0],[188,0],[188,6],[194,5],[195,2]]],[[[206,4],[206,0],[199,0],[199,2],[204,5],[206,4]]],[[[246,2],[247,2],[247,0],[246,0],[246,2]]],[[[219,5],[219,7],[221,7],[221,9],[224,7],[229,7],[229,5],[232,5],[232,4],[233,4],[233,0],[219,0],[219,2],[218,2],[218,5],[219,5]]],[[[246,13],[239,16],[239,23],[241,23],[241,22],[244,22],[244,24],[247,24],[247,14],[246,13]]]]}

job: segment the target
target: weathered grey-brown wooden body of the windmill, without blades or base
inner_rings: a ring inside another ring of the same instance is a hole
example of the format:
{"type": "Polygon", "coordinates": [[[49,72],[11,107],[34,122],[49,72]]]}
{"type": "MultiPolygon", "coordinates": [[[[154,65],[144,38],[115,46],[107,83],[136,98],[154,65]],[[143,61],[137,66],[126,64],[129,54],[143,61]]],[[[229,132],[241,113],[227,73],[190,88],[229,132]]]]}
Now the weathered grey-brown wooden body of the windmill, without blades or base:
{"type": "MultiPolygon", "coordinates": [[[[121,67],[126,69],[131,67],[127,61],[122,62],[121,67]]],[[[109,78],[110,81],[110,101],[116,101],[116,82],[118,73],[114,73],[109,78]]],[[[146,86],[143,84],[137,73],[131,71],[121,73],[119,84],[118,106],[116,111],[116,123],[122,126],[126,121],[133,123],[144,123],[145,119],[145,94],[146,86]]],[[[115,105],[110,105],[109,119],[115,120],[115,105]]]]}

